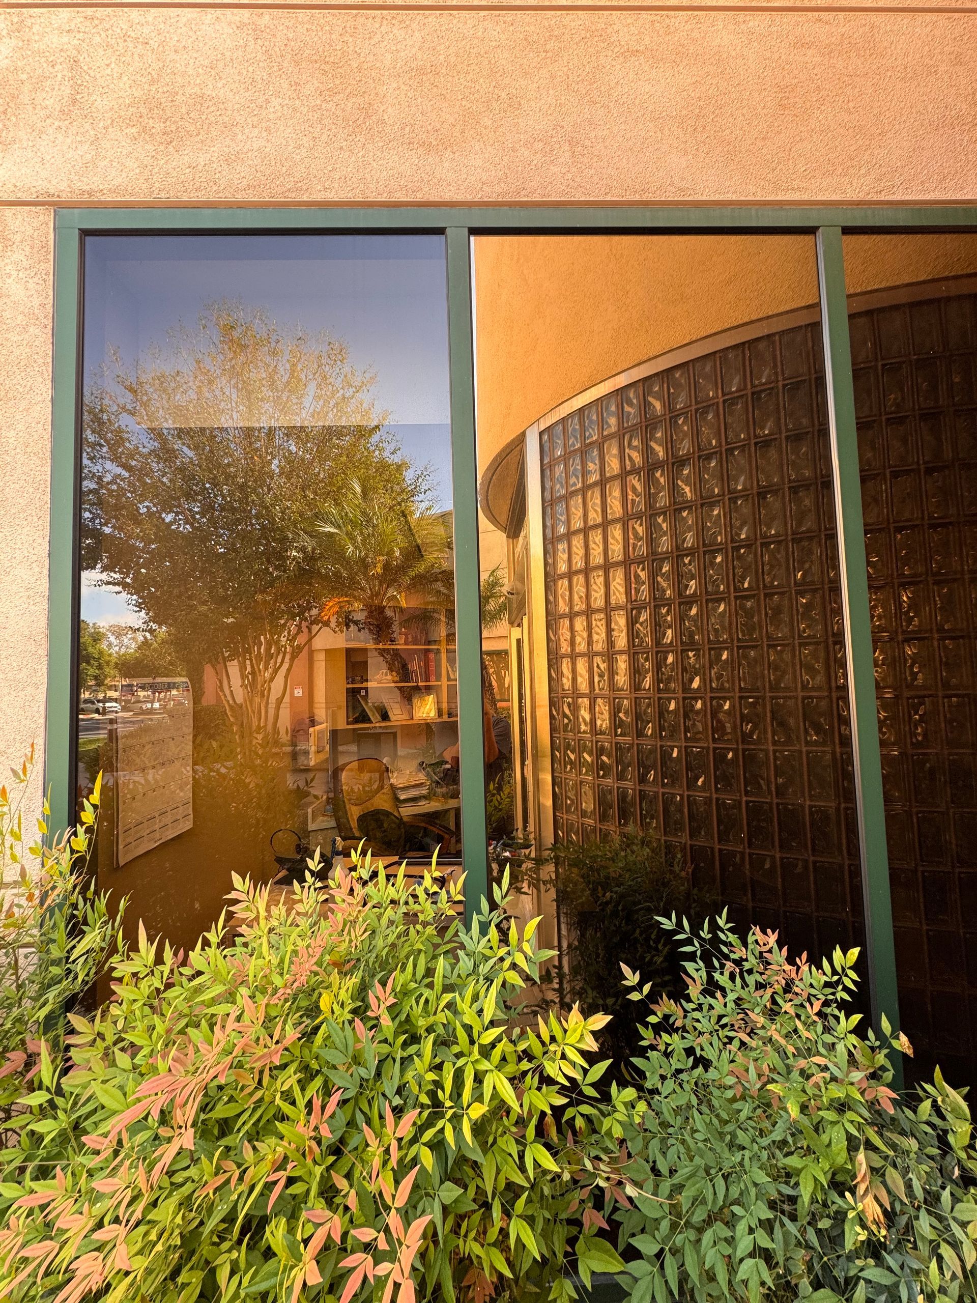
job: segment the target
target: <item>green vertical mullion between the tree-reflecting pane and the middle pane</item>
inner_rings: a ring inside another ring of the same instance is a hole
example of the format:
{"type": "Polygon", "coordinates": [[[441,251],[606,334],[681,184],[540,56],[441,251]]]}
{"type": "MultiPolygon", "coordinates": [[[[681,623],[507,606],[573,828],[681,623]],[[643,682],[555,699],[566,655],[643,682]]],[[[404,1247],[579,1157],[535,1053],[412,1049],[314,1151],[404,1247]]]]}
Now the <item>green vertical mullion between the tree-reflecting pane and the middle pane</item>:
{"type": "Polygon", "coordinates": [[[451,460],[455,503],[455,625],[459,674],[461,839],[468,919],[488,895],[485,816],[478,468],[475,461],[474,341],[468,228],[447,231],[451,460]]]}

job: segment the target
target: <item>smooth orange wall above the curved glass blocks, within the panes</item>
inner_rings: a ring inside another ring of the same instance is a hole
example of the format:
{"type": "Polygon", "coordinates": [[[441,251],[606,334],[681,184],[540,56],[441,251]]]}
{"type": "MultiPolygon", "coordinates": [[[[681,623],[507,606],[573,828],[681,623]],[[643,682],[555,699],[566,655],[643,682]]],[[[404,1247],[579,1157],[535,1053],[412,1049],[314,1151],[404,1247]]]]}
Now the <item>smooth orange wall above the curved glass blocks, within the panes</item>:
{"type": "MultiPolygon", "coordinates": [[[[851,293],[977,271],[977,236],[845,240],[851,293]]],[[[666,349],[817,302],[813,236],[481,237],[478,461],[666,349]]]]}

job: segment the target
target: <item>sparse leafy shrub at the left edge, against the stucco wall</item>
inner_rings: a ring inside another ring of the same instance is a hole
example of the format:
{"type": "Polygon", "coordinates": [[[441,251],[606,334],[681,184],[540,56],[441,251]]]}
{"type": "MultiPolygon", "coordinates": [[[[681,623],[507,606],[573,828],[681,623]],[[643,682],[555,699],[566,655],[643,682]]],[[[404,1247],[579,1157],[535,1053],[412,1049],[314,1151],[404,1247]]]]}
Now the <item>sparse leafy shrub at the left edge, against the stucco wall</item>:
{"type": "Polygon", "coordinates": [[[47,1053],[61,1049],[63,1012],[95,981],[113,938],[106,900],[86,872],[87,830],[99,786],[83,804],[81,823],[48,846],[50,808],[42,807],[36,837],[23,826],[34,752],[0,786],[0,1128],[22,1105],[30,1079],[47,1053]]]}

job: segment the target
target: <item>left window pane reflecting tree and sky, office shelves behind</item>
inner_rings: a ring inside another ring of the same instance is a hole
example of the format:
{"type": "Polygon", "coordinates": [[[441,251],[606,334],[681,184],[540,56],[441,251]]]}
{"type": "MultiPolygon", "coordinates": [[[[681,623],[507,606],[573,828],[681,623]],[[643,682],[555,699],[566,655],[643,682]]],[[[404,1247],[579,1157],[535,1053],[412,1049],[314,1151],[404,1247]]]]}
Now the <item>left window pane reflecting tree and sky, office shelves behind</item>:
{"type": "Polygon", "coordinates": [[[232,872],[459,848],[444,241],[90,237],[77,784],[191,943],[232,872]]]}

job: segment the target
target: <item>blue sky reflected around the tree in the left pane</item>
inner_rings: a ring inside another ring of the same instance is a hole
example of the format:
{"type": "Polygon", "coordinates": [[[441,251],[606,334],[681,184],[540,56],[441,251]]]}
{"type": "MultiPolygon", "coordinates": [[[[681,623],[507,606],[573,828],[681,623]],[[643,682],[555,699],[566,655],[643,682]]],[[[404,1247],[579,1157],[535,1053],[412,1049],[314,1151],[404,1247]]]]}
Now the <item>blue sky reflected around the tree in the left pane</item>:
{"type": "MultiPolygon", "coordinates": [[[[376,374],[388,429],[430,470],[431,506],[451,507],[448,318],[440,236],[90,236],[85,242],[85,375],[117,349],[132,365],[177,323],[233,298],[279,327],[328,331],[376,374]]],[[[125,598],[82,584],[86,619],[126,620],[125,598]]]]}

